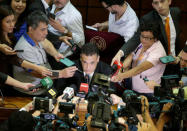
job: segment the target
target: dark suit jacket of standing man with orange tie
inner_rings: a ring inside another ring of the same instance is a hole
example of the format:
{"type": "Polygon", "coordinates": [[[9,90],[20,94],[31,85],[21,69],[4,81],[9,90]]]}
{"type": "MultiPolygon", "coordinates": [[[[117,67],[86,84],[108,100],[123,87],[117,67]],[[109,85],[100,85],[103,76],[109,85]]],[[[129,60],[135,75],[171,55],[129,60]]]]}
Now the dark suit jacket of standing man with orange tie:
{"type": "MultiPolygon", "coordinates": [[[[176,30],[175,52],[176,52],[176,55],[178,55],[178,53],[181,50],[180,40],[179,40],[179,35],[181,32],[179,28],[180,9],[176,7],[170,8],[170,14],[173,19],[175,30],[176,30]]],[[[156,10],[149,12],[148,14],[144,15],[140,19],[140,25],[143,23],[146,24],[150,22],[153,22],[154,24],[159,25],[159,28],[160,28],[159,40],[161,41],[166,53],[168,54],[168,41],[167,41],[167,36],[165,32],[165,27],[164,27],[161,17],[159,16],[156,10]]],[[[138,28],[134,36],[122,46],[121,50],[123,50],[124,56],[125,57],[128,56],[132,51],[134,51],[137,48],[139,44],[140,44],[140,27],[138,28]]]]}

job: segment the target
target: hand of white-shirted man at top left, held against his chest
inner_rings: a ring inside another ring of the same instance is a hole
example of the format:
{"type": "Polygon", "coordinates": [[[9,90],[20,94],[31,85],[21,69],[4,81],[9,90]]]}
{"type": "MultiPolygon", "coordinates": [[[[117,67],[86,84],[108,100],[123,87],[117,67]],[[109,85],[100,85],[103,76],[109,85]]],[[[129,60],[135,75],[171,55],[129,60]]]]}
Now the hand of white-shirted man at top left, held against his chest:
{"type": "Polygon", "coordinates": [[[61,33],[64,33],[66,28],[62,26],[62,24],[58,20],[54,20],[52,18],[49,18],[49,24],[56,30],[58,30],[61,33]]]}

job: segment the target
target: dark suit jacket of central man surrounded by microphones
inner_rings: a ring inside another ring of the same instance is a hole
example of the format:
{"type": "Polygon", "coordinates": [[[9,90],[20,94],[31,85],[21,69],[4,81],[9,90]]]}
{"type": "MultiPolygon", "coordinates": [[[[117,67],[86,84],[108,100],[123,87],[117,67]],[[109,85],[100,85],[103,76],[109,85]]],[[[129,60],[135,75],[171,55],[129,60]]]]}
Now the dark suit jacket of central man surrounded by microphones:
{"type": "MultiPolygon", "coordinates": [[[[82,69],[82,64],[81,64],[80,60],[75,61],[75,65],[76,65],[76,67],[77,67],[80,71],[83,70],[83,69],[82,69]]],[[[100,61],[100,62],[97,64],[97,67],[96,67],[96,69],[95,69],[94,74],[95,74],[95,73],[101,73],[101,74],[104,74],[104,75],[109,76],[109,75],[112,73],[112,68],[111,68],[108,64],[106,64],[106,63],[100,61]]],[[[94,76],[94,75],[93,75],[93,76],[94,76]]],[[[92,79],[93,79],[93,77],[92,77],[92,79]]],[[[58,90],[58,92],[59,92],[60,94],[62,94],[62,91],[63,91],[64,87],[70,86],[70,85],[72,85],[72,84],[76,85],[76,87],[73,87],[73,88],[74,88],[75,92],[78,92],[78,91],[79,91],[80,84],[81,84],[81,83],[86,83],[86,80],[85,80],[85,78],[84,78],[84,74],[83,74],[83,73],[80,73],[80,72],[76,71],[75,74],[74,74],[74,76],[73,76],[72,78],[60,79],[57,83],[58,83],[58,84],[56,85],[57,90],[58,90]]],[[[90,82],[90,83],[91,83],[91,82],[90,82]]],[[[115,86],[114,86],[114,83],[111,82],[111,85],[110,85],[110,86],[111,86],[111,88],[114,89],[114,91],[116,91],[115,86]]],[[[89,90],[90,90],[90,89],[89,89],[89,90]]]]}

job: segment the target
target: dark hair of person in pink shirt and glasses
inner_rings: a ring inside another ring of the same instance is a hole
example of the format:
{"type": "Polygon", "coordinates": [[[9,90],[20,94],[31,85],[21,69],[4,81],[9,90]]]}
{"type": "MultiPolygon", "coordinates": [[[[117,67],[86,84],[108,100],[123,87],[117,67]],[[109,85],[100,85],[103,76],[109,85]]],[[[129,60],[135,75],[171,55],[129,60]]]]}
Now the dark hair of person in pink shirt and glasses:
{"type": "Polygon", "coordinates": [[[142,23],[140,25],[140,32],[149,31],[153,33],[153,37],[159,40],[159,33],[160,29],[158,24],[155,24],[154,22],[150,23],[142,23]]]}

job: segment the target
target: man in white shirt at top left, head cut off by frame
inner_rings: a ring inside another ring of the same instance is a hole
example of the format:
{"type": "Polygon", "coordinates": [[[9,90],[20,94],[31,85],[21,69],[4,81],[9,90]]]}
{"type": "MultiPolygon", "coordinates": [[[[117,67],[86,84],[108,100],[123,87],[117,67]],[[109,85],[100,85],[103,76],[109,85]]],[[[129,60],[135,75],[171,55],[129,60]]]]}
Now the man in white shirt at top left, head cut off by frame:
{"type": "MultiPolygon", "coordinates": [[[[82,16],[70,0],[54,0],[51,13],[55,15],[55,19],[49,19],[49,35],[52,34],[52,36],[55,35],[57,37],[68,35],[81,47],[85,41],[82,16]]],[[[64,53],[65,57],[72,54],[69,49],[70,43],[56,41],[56,37],[49,36],[47,38],[54,44],[56,49],[64,53]],[[55,41],[53,42],[54,39],[55,41]]]]}

